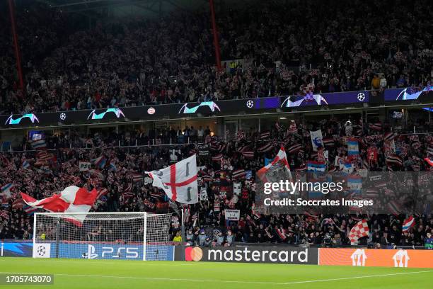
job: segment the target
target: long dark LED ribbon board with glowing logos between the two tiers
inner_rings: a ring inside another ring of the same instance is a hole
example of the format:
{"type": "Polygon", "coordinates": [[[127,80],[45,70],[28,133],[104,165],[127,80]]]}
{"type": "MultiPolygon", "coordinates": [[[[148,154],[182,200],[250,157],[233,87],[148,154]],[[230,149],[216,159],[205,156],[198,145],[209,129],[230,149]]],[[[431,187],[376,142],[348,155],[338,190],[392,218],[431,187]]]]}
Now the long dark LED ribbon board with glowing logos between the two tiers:
{"type": "MultiPolygon", "coordinates": [[[[385,101],[421,101],[428,103],[432,98],[432,86],[422,91],[410,91],[409,89],[385,89],[385,101]]],[[[362,107],[369,103],[369,91],[345,91],[328,94],[316,94],[308,96],[272,96],[263,98],[249,98],[226,101],[204,101],[202,103],[171,103],[153,106],[134,106],[123,108],[97,108],[81,111],[58,111],[52,113],[25,113],[0,115],[0,126],[12,127],[47,127],[50,125],[73,125],[85,123],[125,123],[130,120],[163,120],[165,118],[200,118],[203,116],[233,115],[239,111],[246,114],[255,114],[263,111],[294,111],[306,107],[318,108],[319,106],[342,106],[350,103],[353,107],[362,107]]],[[[199,155],[206,155],[206,149],[199,155]]]]}

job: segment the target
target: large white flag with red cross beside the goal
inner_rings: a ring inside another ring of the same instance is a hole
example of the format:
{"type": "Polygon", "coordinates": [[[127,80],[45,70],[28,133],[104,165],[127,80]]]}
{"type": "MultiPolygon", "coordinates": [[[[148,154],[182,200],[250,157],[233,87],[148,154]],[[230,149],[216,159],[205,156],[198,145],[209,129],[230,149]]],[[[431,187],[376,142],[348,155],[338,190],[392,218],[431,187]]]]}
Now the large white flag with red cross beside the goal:
{"type": "Polygon", "coordinates": [[[158,171],[146,171],[152,179],[152,185],[162,188],[168,198],[183,204],[198,203],[197,159],[183,159],[158,171]]]}

